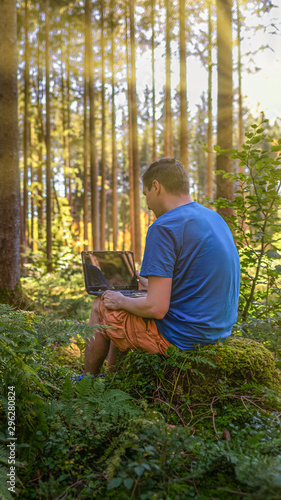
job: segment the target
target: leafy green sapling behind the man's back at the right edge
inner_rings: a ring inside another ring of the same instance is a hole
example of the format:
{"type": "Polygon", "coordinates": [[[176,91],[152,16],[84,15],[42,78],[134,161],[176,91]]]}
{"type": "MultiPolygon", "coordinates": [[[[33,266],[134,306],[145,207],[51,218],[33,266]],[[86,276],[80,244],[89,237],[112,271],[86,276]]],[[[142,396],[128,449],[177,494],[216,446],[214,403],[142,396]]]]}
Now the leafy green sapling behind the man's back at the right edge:
{"type": "Polygon", "coordinates": [[[281,313],[281,139],[252,125],[242,150],[221,150],[229,154],[242,172],[223,174],[234,183],[232,201],[219,199],[217,207],[234,213],[227,222],[234,233],[241,261],[240,316],[264,318],[281,313]]]}

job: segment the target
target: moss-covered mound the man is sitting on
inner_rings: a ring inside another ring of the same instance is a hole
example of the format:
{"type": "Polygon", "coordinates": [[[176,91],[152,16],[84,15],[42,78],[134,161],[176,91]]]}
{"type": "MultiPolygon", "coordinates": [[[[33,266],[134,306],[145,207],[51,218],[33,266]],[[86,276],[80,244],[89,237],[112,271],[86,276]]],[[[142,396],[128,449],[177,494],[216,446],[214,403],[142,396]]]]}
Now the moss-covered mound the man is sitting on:
{"type": "Polygon", "coordinates": [[[281,371],[273,354],[263,344],[235,335],[192,351],[169,348],[168,357],[131,351],[117,378],[132,394],[146,397],[155,391],[174,391],[175,398],[184,393],[191,402],[234,389],[249,393],[251,384],[281,394],[281,371]]]}

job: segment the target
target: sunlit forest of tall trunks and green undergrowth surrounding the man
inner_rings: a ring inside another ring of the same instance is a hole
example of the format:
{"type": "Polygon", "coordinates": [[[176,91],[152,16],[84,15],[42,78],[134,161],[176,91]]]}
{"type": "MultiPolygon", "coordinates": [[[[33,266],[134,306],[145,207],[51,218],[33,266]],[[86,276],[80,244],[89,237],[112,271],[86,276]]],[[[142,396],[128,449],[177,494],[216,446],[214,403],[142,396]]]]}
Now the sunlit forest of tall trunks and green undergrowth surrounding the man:
{"type": "Polygon", "coordinates": [[[276,3],[1,0],[1,500],[281,498],[280,117],[244,91],[263,102],[276,3]],[[81,251],[140,269],[161,157],[229,224],[237,323],[78,382],[81,251]]]}

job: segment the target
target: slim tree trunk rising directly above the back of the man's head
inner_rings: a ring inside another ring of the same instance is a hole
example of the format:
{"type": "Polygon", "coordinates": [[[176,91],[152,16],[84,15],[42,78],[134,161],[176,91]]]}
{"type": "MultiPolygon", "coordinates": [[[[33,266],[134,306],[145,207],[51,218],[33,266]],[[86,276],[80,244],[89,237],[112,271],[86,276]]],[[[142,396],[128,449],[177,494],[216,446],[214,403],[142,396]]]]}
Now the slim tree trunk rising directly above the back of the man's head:
{"type": "Polygon", "coordinates": [[[180,160],[185,169],[188,171],[185,0],[179,0],[179,18],[180,18],[180,160]]]}

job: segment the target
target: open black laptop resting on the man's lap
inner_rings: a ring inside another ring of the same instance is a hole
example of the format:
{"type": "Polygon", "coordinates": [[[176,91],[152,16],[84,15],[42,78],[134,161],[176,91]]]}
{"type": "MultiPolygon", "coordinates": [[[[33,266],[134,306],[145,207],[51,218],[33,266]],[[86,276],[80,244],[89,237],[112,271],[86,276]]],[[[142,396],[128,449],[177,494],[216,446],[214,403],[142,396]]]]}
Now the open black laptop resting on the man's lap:
{"type": "Polygon", "coordinates": [[[129,297],[145,297],[138,290],[134,254],[132,251],[81,252],[86,291],[101,296],[106,290],[121,292],[129,297]]]}

